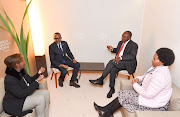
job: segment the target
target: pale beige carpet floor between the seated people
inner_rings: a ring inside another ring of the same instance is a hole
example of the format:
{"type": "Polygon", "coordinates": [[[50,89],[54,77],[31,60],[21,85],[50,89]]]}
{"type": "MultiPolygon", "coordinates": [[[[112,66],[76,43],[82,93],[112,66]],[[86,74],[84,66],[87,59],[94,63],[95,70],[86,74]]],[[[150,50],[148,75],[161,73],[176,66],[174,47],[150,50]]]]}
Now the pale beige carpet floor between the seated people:
{"type": "MultiPolygon", "coordinates": [[[[120,77],[116,79],[116,92],[112,98],[106,98],[109,91],[109,76],[104,81],[104,85],[94,86],[89,83],[89,79],[96,79],[101,76],[101,72],[82,72],[80,79],[80,88],[69,86],[71,74],[66,77],[64,86],[55,88],[55,78],[50,80],[48,76],[48,88],[50,91],[50,117],[98,117],[97,111],[93,107],[93,102],[100,106],[104,106],[117,97],[120,89],[120,77]]],[[[125,77],[124,77],[125,78],[125,77]]],[[[122,117],[118,110],[115,117],[122,117]]]]}

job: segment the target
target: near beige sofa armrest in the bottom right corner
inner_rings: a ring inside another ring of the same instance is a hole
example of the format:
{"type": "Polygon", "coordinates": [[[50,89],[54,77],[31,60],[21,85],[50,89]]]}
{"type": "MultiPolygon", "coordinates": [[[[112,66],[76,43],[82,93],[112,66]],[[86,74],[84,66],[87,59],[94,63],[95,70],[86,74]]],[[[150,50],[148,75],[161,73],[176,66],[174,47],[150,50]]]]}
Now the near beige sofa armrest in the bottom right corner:
{"type": "Polygon", "coordinates": [[[180,111],[136,111],[135,117],[179,117],[180,111]]]}

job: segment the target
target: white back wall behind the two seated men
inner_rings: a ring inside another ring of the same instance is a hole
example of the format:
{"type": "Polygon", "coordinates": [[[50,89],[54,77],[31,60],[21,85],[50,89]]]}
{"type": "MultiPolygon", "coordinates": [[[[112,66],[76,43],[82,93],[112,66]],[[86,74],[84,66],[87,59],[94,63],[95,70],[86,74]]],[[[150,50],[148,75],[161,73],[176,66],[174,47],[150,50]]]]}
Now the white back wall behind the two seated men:
{"type": "Polygon", "coordinates": [[[33,0],[39,8],[45,53],[50,70],[48,46],[53,33],[60,32],[80,62],[105,62],[113,54],[107,45],[117,46],[124,31],[140,43],[145,0],[33,0]]]}

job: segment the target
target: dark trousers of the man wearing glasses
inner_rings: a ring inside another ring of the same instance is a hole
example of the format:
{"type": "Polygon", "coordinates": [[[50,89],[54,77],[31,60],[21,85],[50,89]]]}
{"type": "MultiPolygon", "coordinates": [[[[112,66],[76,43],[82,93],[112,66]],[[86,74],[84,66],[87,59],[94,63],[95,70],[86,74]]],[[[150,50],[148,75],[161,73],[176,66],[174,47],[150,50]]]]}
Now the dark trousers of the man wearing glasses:
{"type": "MultiPolygon", "coordinates": [[[[73,69],[73,74],[72,74],[72,77],[71,77],[71,81],[77,80],[78,71],[79,71],[79,68],[80,68],[80,63],[77,62],[77,63],[74,64],[71,60],[66,60],[65,65],[74,68],[73,69]]],[[[68,71],[63,67],[58,67],[58,69],[61,71],[61,75],[60,75],[59,78],[61,78],[61,80],[64,81],[64,78],[65,78],[66,74],[68,73],[68,71]]]]}

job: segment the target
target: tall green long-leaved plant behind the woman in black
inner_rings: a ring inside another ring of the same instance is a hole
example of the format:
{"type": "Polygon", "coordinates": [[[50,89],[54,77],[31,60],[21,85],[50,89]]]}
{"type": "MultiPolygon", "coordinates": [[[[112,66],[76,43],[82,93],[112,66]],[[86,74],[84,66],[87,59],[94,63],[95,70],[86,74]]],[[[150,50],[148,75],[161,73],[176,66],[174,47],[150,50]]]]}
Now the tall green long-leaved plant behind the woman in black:
{"type": "Polygon", "coordinates": [[[19,52],[24,57],[25,69],[26,69],[28,74],[30,74],[30,68],[29,68],[29,62],[28,62],[28,52],[27,52],[28,51],[28,43],[29,43],[29,31],[28,31],[27,35],[25,36],[24,29],[23,29],[23,22],[24,22],[25,16],[28,13],[28,9],[29,9],[29,6],[31,4],[31,1],[28,3],[26,10],[24,12],[24,16],[23,16],[22,23],[21,23],[20,35],[17,34],[17,31],[14,27],[13,22],[11,21],[11,19],[7,15],[5,9],[3,8],[2,4],[0,3],[0,5],[3,9],[3,12],[6,16],[6,19],[7,19],[7,21],[6,21],[5,18],[0,13],[0,19],[1,19],[2,23],[4,24],[4,26],[0,25],[0,28],[7,30],[10,33],[10,35],[12,36],[12,38],[14,39],[14,41],[16,42],[18,49],[19,49],[19,52]]]}

